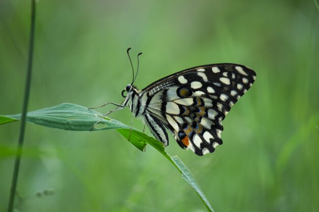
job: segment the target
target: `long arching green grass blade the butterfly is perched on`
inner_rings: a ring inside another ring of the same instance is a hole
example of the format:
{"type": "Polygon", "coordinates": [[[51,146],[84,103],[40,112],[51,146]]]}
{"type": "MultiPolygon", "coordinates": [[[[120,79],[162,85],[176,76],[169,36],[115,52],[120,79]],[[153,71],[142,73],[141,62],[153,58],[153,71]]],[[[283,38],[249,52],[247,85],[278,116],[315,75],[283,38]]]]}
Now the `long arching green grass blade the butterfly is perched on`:
{"type": "MultiPolygon", "coordinates": [[[[117,120],[101,117],[103,117],[103,115],[95,110],[90,110],[80,105],[64,103],[54,107],[28,112],[26,114],[26,121],[45,127],[72,131],[116,129],[126,140],[142,151],[145,150],[146,144],[149,143],[177,168],[182,174],[182,178],[196,191],[208,211],[214,211],[191,171],[177,156],[169,156],[165,152],[165,147],[162,142],[135,128],[130,128],[117,120]],[[94,126],[98,121],[99,123],[94,126]],[[92,128],[92,126],[94,126],[94,128],[92,128]]],[[[0,125],[15,122],[19,119],[20,114],[2,115],[0,116],[0,125]]]]}

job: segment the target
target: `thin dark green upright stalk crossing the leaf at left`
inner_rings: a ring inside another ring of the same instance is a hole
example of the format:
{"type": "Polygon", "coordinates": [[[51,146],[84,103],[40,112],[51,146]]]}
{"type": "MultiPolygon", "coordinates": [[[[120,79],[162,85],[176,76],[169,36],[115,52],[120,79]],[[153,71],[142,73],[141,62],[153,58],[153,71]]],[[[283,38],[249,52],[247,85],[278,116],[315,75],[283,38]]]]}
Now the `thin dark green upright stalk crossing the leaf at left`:
{"type": "Polygon", "coordinates": [[[24,99],[23,99],[22,112],[21,112],[20,134],[19,134],[17,153],[16,153],[16,157],[15,157],[15,162],[14,162],[8,212],[13,211],[16,187],[17,187],[17,182],[18,182],[19,166],[20,166],[20,160],[21,160],[21,154],[22,154],[23,137],[24,137],[24,129],[25,129],[25,117],[26,117],[26,110],[28,108],[30,85],[31,85],[31,73],[32,73],[31,70],[32,70],[33,48],[34,48],[35,16],[36,16],[36,3],[35,3],[35,0],[31,0],[31,28],[30,28],[30,37],[29,37],[28,68],[26,71],[24,99]]]}

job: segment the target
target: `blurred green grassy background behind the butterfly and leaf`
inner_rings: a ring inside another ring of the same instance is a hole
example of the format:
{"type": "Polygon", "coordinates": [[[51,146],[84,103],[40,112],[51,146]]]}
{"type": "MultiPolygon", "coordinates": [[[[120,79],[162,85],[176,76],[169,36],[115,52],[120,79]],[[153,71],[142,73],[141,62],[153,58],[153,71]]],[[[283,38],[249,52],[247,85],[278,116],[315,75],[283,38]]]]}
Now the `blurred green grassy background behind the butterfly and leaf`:
{"type": "MultiPolygon", "coordinates": [[[[0,114],[21,111],[30,1],[0,1],[0,114]]],[[[122,100],[136,85],[193,66],[257,73],[224,120],[224,144],[198,157],[171,136],[218,211],[319,211],[319,11],[313,1],[43,1],[37,4],[29,111],[122,100]]],[[[100,108],[106,112],[112,107],[100,108]]],[[[129,125],[129,109],[113,113],[129,125]]],[[[143,129],[140,120],[134,127],[143,129]]],[[[8,205],[19,123],[0,126],[0,211],[8,205]]],[[[149,131],[146,131],[149,133],[149,131]]],[[[156,150],[116,131],[26,125],[18,211],[206,211],[156,150]],[[53,194],[44,195],[49,189],[53,194]],[[41,197],[37,193],[42,194],[41,197]]]]}

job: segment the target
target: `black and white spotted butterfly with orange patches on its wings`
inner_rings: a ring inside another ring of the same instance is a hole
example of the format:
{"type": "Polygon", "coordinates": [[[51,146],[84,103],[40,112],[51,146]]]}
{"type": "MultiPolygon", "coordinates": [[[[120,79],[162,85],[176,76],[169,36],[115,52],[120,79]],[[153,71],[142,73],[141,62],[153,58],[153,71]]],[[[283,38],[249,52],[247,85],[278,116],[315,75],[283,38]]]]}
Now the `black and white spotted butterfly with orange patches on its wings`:
{"type": "Polygon", "coordinates": [[[125,100],[118,109],[129,105],[164,146],[169,144],[167,128],[180,147],[202,156],[223,143],[222,120],[256,73],[238,64],[210,64],[174,73],[142,90],[133,85],[135,78],[123,90],[125,100]]]}

